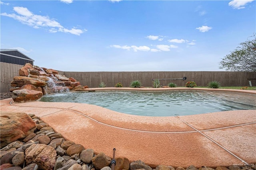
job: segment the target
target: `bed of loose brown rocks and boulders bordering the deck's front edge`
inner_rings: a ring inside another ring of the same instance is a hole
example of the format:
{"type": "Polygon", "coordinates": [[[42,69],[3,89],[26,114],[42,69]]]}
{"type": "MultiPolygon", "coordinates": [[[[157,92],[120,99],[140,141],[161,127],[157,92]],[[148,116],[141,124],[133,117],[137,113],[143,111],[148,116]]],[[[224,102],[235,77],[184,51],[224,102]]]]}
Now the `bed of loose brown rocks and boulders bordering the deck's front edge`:
{"type": "MultiPolygon", "coordinates": [[[[65,140],[34,114],[1,112],[0,170],[111,170],[112,158],[65,140]],[[12,123],[10,123],[12,122],[12,123]],[[9,124],[9,126],[8,126],[9,124]]],[[[185,170],[186,167],[150,167],[142,160],[116,157],[115,170],[185,170]]],[[[215,170],[256,170],[256,165],[217,167],[215,170]]],[[[186,170],[198,170],[191,165],[186,170]]],[[[214,170],[201,167],[199,170],[214,170]]]]}

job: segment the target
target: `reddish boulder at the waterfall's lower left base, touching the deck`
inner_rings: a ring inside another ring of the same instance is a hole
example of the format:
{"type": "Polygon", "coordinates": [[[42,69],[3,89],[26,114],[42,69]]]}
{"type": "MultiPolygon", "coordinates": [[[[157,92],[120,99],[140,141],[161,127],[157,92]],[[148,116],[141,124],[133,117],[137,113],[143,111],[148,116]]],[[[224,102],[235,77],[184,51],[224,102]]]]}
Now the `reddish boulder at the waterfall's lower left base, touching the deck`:
{"type": "Polygon", "coordinates": [[[41,91],[20,89],[14,90],[12,99],[14,102],[27,102],[27,101],[36,101],[40,99],[43,95],[41,91]]]}

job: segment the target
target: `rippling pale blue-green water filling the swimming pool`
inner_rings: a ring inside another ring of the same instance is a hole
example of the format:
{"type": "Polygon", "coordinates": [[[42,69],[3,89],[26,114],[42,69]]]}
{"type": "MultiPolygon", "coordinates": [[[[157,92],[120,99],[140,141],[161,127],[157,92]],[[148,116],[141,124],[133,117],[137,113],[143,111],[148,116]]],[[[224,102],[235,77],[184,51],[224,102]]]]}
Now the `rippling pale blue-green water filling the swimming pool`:
{"type": "Polygon", "coordinates": [[[87,103],[131,115],[165,117],[256,109],[255,97],[207,91],[101,91],[55,93],[44,95],[40,101],[87,103]]]}

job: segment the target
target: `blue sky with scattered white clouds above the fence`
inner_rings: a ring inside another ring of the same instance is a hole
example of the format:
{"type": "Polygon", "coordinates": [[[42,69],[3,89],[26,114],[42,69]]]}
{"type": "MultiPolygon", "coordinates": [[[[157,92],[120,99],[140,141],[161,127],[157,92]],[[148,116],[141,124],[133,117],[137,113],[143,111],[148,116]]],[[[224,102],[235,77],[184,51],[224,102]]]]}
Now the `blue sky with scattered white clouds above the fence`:
{"type": "Polygon", "coordinates": [[[61,71],[223,71],[255,0],[1,0],[1,49],[61,71]]]}

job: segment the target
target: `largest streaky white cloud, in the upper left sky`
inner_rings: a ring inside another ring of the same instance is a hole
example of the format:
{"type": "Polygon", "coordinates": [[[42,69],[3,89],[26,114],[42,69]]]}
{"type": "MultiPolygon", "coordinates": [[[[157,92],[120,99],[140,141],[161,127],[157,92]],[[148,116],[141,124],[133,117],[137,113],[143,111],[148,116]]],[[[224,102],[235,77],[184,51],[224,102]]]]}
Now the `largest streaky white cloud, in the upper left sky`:
{"type": "Polygon", "coordinates": [[[63,26],[60,25],[56,20],[49,18],[48,16],[41,16],[41,15],[36,15],[33,14],[28,10],[28,8],[24,7],[14,7],[13,8],[17,14],[7,14],[6,12],[2,13],[2,16],[8,16],[10,18],[13,18],[14,20],[18,20],[22,24],[26,24],[28,26],[31,26],[33,28],[50,28],[48,29],[49,32],[51,33],[56,33],[56,32],[65,32],[65,33],[70,33],[74,34],[77,36],[80,36],[80,34],[86,32],[87,30],[80,30],[76,28],[72,29],[67,29],[64,28],[63,26]],[[58,29],[57,29],[58,28],[58,29]]]}

